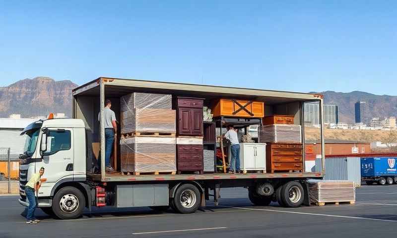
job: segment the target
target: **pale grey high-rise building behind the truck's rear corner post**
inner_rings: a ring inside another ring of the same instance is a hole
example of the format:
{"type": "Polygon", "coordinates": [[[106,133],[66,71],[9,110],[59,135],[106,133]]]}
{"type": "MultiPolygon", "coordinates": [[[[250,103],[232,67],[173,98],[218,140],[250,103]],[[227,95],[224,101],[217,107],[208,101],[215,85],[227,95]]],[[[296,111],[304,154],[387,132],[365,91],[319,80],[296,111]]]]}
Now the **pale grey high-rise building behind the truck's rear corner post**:
{"type": "MultiPolygon", "coordinates": [[[[318,103],[305,103],[304,112],[306,125],[317,126],[320,124],[318,103]]],[[[338,106],[323,105],[323,119],[325,124],[337,124],[339,122],[338,106]]]]}

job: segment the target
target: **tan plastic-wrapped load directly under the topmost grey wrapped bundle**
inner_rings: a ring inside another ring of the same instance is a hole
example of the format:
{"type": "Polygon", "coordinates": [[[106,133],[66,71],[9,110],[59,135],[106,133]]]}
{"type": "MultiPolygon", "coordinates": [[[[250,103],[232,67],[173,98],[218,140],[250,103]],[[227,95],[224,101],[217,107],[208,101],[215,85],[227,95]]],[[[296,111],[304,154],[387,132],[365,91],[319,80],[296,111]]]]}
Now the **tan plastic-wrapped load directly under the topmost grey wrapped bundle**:
{"type": "Polygon", "coordinates": [[[121,133],[176,132],[175,110],[134,108],[121,113],[121,133]]]}

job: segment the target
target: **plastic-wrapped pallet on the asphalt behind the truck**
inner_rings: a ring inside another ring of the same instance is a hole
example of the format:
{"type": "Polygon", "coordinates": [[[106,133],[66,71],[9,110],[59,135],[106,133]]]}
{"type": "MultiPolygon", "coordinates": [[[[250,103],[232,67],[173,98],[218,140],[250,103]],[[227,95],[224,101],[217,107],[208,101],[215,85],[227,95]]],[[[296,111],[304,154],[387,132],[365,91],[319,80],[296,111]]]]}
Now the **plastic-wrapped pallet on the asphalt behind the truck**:
{"type": "Polygon", "coordinates": [[[356,200],[354,181],[309,179],[308,182],[311,203],[356,200]]]}

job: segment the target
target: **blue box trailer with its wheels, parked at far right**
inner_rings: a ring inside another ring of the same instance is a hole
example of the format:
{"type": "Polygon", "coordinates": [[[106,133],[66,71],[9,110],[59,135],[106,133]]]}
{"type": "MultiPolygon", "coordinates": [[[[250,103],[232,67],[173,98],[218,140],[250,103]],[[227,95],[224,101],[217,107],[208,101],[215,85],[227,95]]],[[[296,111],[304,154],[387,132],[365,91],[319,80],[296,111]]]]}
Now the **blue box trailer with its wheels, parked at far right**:
{"type": "Polygon", "coordinates": [[[396,157],[361,158],[361,180],[368,185],[397,183],[396,157]]]}

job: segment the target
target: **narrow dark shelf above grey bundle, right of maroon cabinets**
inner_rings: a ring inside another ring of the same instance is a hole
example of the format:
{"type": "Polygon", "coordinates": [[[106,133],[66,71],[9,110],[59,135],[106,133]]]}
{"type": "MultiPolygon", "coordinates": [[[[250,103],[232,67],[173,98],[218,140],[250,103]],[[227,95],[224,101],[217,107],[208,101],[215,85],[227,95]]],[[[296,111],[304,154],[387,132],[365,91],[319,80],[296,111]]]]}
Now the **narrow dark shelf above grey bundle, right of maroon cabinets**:
{"type": "Polygon", "coordinates": [[[203,155],[204,155],[204,172],[215,171],[216,161],[216,135],[215,122],[203,121],[203,155]]]}

